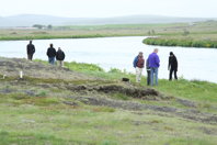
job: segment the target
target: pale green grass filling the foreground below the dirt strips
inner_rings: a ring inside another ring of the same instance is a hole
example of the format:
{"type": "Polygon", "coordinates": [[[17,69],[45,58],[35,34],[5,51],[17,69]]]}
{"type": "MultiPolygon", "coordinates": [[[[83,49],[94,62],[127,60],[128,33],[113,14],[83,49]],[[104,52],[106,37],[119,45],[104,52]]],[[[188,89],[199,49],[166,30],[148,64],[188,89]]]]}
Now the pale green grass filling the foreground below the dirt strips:
{"type": "Polygon", "coordinates": [[[201,126],[207,130],[216,129],[212,125],[167,115],[159,116],[151,111],[137,114],[102,107],[75,109],[62,104],[42,107],[30,103],[10,108],[1,103],[0,111],[0,115],[3,116],[0,119],[2,145],[214,145],[216,143],[215,135],[199,131],[201,126]]]}

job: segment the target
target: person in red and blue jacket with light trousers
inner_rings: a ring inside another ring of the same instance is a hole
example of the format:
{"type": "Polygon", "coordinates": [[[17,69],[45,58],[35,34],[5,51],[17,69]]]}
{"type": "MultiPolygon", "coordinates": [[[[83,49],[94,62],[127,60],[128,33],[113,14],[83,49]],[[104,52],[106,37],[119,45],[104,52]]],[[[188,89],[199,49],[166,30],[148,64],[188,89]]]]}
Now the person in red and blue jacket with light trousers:
{"type": "Polygon", "coordinates": [[[145,60],[142,52],[139,52],[138,56],[134,59],[134,68],[136,68],[136,82],[141,81],[141,75],[144,69],[145,60]]]}

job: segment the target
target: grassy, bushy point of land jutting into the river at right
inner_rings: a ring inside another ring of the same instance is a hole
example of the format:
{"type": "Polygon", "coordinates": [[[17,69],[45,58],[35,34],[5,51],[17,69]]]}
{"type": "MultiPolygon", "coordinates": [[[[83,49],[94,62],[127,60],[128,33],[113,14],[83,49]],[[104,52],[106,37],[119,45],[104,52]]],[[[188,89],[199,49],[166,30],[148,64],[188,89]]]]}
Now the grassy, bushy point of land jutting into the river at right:
{"type": "Polygon", "coordinates": [[[189,26],[176,26],[170,33],[158,33],[158,37],[144,40],[145,44],[159,46],[217,48],[216,21],[195,22],[189,26]]]}

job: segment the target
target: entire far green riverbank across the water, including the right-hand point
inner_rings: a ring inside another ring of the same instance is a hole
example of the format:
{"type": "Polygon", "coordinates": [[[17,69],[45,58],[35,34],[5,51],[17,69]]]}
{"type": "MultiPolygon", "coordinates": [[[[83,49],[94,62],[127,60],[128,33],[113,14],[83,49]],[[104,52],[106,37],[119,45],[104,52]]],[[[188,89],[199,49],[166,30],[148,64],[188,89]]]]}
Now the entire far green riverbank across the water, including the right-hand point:
{"type": "Polygon", "coordinates": [[[163,46],[212,47],[217,44],[217,22],[172,24],[111,24],[53,26],[52,30],[2,29],[0,41],[88,38],[114,36],[159,36],[144,43],[163,46]]]}

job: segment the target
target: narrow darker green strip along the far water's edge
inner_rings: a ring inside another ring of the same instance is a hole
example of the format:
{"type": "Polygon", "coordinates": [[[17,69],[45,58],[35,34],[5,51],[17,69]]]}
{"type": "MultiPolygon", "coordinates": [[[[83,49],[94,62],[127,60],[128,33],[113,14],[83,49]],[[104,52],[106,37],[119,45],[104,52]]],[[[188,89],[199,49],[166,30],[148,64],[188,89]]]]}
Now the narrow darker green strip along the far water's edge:
{"type": "MultiPolygon", "coordinates": [[[[75,36],[21,36],[21,37],[0,37],[0,42],[3,41],[30,41],[30,40],[67,40],[67,38],[100,38],[100,37],[123,37],[123,36],[147,36],[141,34],[135,35],[75,35],[75,36]]],[[[217,48],[217,42],[214,41],[192,41],[192,40],[175,40],[175,38],[164,38],[163,35],[158,37],[148,36],[144,38],[144,44],[153,46],[181,46],[181,47],[195,47],[195,48],[217,48]]]]}

